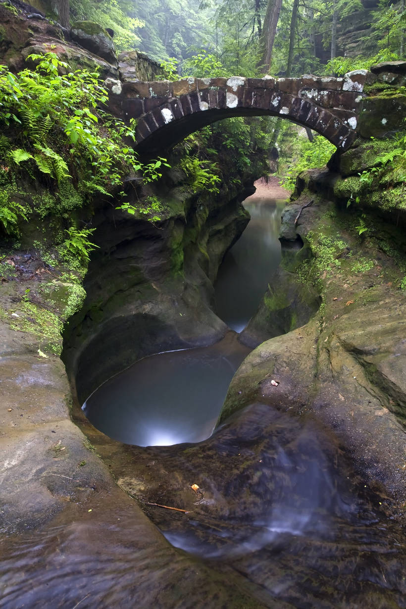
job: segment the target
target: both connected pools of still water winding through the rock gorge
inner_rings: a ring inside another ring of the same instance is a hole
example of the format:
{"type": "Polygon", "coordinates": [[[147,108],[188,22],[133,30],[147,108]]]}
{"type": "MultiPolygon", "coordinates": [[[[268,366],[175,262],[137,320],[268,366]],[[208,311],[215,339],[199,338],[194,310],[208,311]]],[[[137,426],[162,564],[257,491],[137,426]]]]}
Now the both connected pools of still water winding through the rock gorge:
{"type": "MultiPolygon", "coordinates": [[[[251,220],[226,254],[215,286],[217,314],[236,333],[279,265],[284,201],[250,197],[244,206],[251,220]]],[[[228,385],[249,352],[230,332],[210,347],[145,357],[103,383],[83,411],[97,429],[127,444],[200,442],[212,434],[228,385]]]]}

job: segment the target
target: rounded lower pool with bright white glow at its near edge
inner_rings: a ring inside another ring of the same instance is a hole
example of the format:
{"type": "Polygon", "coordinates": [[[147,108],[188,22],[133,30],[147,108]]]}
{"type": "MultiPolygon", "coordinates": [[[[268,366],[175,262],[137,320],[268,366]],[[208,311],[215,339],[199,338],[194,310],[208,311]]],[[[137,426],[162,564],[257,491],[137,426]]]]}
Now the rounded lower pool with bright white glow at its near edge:
{"type": "Polygon", "coordinates": [[[83,410],[97,429],[127,444],[200,442],[249,351],[228,333],[211,347],[145,357],[99,387],[83,410]]]}

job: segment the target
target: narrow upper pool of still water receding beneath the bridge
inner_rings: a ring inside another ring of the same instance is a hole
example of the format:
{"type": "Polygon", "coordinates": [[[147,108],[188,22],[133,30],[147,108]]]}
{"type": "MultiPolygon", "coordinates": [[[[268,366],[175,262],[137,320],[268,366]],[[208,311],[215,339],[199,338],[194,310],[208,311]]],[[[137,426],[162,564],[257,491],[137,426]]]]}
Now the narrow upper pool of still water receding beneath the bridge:
{"type": "Polygon", "coordinates": [[[285,200],[249,197],[243,203],[251,220],[226,253],[215,283],[217,315],[241,332],[258,308],[281,261],[279,228],[285,200]]]}

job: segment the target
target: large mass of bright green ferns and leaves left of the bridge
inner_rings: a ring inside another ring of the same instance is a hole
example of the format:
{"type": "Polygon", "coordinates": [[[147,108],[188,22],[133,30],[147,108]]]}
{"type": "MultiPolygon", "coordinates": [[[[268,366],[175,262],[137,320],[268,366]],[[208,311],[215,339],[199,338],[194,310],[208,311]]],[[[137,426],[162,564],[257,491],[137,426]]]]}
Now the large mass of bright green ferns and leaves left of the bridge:
{"type": "MultiPolygon", "coordinates": [[[[168,166],[164,158],[144,165],[133,147],[124,143],[124,138],[135,141],[136,121],[126,125],[100,110],[107,91],[100,86],[97,72],[61,75],[58,69],[66,71],[68,66],[53,52],[29,58],[36,64],[34,71],[25,69],[14,75],[0,66],[0,127],[6,131],[0,137],[2,182],[23,167],[29,175],[37,170],[54,180],[53,200],[38,205],[44,217],[64,215],[96,192],[110,196],[125,175],[141,172],[145,182],[161,177],[162,168],[168,166]],[[23,146],[13,146],[11,136],[23,146]]],[[[21,215],[15,206],[2,206],[7,230],[16,226],[17,212],[21,215]]]]}

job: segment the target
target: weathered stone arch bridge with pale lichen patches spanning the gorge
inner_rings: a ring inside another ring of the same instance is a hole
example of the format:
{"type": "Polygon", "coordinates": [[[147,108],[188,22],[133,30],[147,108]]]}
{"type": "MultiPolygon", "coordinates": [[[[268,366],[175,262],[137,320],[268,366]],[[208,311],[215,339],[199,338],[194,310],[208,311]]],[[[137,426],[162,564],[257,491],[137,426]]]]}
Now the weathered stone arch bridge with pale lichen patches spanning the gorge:
{"type": "Polygon", "coordinates": [[[172,147],[205,125],[229,116],[281,116],[326,137],[343,152],[351,146],[368,72],[343,78],[305,75],[262,79],[233,76],[171,82],[107,79],[110,110],[138,119],[139,152],[152,155],[172,147]]]}

